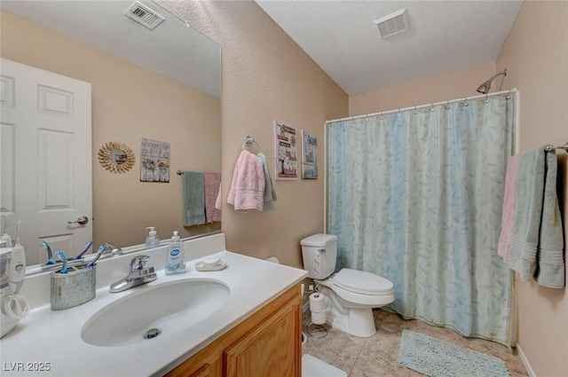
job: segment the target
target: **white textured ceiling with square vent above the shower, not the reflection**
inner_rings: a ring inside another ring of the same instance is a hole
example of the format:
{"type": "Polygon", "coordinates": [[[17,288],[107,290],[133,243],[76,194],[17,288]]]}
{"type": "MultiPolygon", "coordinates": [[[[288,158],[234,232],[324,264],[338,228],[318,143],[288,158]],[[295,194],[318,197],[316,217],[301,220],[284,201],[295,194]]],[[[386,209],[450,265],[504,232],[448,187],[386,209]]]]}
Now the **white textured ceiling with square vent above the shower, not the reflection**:
{"type": "Polygon", "coordinates": [[[522,1],[256,0],[348,94],[493,63],[522,1]],[[373,23],[406,8],[410,28],[373,23]]]}

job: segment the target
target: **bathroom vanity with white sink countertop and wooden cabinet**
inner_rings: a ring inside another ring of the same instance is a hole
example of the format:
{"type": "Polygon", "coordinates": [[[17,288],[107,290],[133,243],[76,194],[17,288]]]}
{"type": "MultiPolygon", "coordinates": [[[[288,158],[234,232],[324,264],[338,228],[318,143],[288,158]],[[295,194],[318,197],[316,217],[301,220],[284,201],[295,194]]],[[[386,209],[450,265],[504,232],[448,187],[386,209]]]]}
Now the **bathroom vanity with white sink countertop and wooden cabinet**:
{"type": "Polygon", "coordinates": [[[306,272],[226,251],[221,233],[185,241],[184,248],[188,271],[177,276],[163,271],[166,247],[99,260],[97,296],[67,310],[50,308],[49,273],[29,276],[21,295],[33,309],[0,340],[1,374],[299,377],[299,285],[306,272]],[[150,255],[147,264],[154,266],[157,279],[109,293],[109,285],[128,272],[137,255],[150,255]],[[195,264],[205,257],[221,258],[227,267],[196,271],[195,264]],[[194,289],[200,284],[205,290],[194,289]],[[207,293],[209,287],[221,287],[222,294],[195,294],[186,301],[194,305],[179,304],[179,291],[207,293]],[[163,317],[160,308],[176,311],[173,326],[170,318],[160,318],[152,323],[162,329],[159,336],[144,339],[142,334],[130,334],[138,322],[146,332],[144,316],[155,312],[163,317]],[[96,329],[91,337],[90,326],[96,329]]]}

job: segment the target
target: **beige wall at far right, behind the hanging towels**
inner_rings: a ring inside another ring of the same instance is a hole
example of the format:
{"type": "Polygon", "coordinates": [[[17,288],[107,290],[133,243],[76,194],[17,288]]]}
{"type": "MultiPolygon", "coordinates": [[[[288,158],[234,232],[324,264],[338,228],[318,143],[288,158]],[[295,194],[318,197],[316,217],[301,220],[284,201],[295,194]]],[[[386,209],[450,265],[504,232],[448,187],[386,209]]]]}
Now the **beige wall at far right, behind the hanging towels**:
{"type": "MultiPolygon", "coordinates": [[[[497,68],[520,91],[520,152],[568,140],[568,2],[525,1],[497,68]]],[[[568,234],[568,155],[558,151],[559,197],[568,234]]],[[[565,257],[564,257],[565,260],[565,257]]],[[[568,375],[566,289],[517,281],[518,344],[538,377],[568,375]]]]}

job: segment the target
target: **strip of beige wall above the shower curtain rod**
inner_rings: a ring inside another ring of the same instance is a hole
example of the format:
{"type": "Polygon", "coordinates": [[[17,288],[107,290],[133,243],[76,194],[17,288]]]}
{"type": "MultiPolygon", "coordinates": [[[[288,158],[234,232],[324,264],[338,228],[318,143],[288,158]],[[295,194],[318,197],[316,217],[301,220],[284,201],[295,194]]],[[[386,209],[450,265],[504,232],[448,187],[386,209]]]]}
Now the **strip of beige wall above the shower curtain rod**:
{"type": "MultiPolygon", "coordinates": [[[[495,74],[495,64],[473,67],[414,82],[388,86],[349,98],[349,115],[374,114],[398,108],[427,105],[456,98],[479,95],[476,89],[495,74]]],[[[493,88],[501,89],[501,77],[493,82],[493,88]]],[[[503,82],[503,88],[508,88],[503,82]]]]}

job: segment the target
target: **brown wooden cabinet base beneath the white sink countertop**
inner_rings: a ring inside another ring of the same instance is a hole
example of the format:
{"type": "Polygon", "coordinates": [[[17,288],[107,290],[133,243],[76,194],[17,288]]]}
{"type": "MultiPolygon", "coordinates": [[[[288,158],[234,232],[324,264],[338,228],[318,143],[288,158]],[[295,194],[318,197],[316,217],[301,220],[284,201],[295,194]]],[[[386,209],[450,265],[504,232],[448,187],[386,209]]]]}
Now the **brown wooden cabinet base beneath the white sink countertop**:
{"type": "Polygon", "coordinates": [[[300,377],[302,297],[288,289],[166,376],[300,377]]]}

